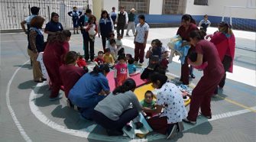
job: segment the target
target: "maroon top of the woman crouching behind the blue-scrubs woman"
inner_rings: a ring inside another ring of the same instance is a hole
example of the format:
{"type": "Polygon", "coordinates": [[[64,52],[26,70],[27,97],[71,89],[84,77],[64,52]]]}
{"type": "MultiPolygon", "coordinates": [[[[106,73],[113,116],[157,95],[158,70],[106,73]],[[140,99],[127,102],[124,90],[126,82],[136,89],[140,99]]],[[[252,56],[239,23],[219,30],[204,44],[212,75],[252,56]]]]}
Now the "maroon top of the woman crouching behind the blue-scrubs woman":
{"type": "Polygon", "coordinates": [[[76,84],[77,80],[86,73],[83,68],[79,68],[73,65],[60,66],[60,77],[63,82],[64,92],[66,98],[68,98],[70,89],[76,84]]]}

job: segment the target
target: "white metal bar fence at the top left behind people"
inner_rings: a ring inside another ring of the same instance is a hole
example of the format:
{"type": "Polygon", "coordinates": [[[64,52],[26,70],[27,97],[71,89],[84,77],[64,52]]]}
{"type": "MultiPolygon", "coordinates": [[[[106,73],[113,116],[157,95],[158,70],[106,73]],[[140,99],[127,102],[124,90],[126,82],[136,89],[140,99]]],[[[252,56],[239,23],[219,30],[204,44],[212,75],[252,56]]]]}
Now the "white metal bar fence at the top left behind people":
{"type": "Polygon", "coordinates": [[[67,12],[76,6],[79,11],[85,13],[89,7],[88,0],[1,0],[0,1],[0,29],[21,29],[21,21],[31,15],[30,8],[40,7],[39,15],[45,18],[44,26],[50,21],[51,12],[60,15],[60,23],[63,27],[73,27],[72,18],[67,12]]]}

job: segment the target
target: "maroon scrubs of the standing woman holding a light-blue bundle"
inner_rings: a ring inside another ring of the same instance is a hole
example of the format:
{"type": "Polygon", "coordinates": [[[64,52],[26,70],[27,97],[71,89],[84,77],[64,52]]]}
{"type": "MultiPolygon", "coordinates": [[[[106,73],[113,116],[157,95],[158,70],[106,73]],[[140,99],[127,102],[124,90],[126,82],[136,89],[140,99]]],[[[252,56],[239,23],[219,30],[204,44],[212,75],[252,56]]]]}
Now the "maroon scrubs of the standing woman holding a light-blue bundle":
{"type": "MultiPolygon", "coordinates": [[[[186,31],[185,27],[180,26],[177,34],[180,35],[182,40],[190,41],[190,32],[191,31],[198,31],[199,29],[196,27],[196,24],[190,23],[190,27],[186,31]]],[[[191,46],[189,53],[194,50],[194,47],[191,46]]],[[[189,54],[188,53],[188,54],[189,54]]],[[[185,62],[183,65],[181,65],[181,76],[180,76],[180,81],[183,82],[183,85],[188,85],[190,83],[190,67],[189,64],[187,63],[187,56],[185,58],[185,62]]]]}

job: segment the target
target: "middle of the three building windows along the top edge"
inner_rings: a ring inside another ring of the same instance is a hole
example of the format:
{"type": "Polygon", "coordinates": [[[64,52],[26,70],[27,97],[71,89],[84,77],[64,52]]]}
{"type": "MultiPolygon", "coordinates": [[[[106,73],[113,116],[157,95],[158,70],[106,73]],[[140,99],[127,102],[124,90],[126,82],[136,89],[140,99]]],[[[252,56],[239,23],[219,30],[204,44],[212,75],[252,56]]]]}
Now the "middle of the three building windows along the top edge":
{"type": "Polygon", "coordinates": [[[186,0],[164,0],[163,15],[183,15],[185,11],[186,0]]]}

